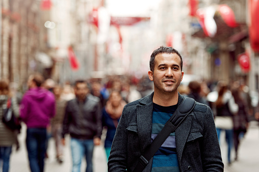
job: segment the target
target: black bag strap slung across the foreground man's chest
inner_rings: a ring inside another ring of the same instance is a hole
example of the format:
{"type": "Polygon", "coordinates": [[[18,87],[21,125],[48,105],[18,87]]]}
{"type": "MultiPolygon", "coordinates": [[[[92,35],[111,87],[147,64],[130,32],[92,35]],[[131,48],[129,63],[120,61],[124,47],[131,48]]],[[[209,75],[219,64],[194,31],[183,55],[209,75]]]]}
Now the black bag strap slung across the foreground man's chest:
{"type": "Polygon", "coordinates": [[[172,117],[164,125],[162,130],[157,134],[151,145],[146,149],[144,154],[139,157],[138,163],[133,172],[140,172],[145,169],[149,160],[154,156],[156,151],[161,147],[163,142],[168,138],[170,133],[174,132],[187,115],[193,110],[196,101],[192,98],[185,97],[177,107],[172,117]]]}

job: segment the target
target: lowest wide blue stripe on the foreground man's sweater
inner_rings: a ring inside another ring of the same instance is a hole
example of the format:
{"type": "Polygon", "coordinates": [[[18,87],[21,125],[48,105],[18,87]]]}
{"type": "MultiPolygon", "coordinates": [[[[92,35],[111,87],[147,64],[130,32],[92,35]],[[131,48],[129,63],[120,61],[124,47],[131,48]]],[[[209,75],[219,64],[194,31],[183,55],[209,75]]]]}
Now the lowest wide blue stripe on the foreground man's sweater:
{"type": "Polygon", "coordinates": [[[179,166],[176,154],[171,155],[155,155],[153,157],[152,167],[159,166],[179,166]]]}

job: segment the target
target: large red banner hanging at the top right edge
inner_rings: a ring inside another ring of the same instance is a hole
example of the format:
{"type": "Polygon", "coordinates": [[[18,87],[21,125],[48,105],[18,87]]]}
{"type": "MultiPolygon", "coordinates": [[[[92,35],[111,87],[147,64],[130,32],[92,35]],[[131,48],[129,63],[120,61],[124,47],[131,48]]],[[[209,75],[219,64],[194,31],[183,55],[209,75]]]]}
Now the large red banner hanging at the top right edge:
{"type": "Polygon", "coordinates": [[[259,52],[259,0],[249,0],[248,11],[250,13],[250,45],[255,52],[259,52]]]}

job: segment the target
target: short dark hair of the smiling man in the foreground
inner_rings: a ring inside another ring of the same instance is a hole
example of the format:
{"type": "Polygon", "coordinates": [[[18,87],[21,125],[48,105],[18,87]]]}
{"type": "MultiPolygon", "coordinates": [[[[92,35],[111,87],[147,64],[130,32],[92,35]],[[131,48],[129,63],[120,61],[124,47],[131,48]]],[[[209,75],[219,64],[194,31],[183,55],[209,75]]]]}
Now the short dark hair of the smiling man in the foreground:
{"type": "Polygon", "coordinates": [[[167,54],[171,54],[171,53],[176,53],[180,59],[181,59],[181,71],[182,71],[182,56],[181,54],[174,48],[172,47],[164,47],[164,46],[160,46],[159,48],[157,48],[156,50],[154,50],[150,56],[150,61],[149,61],[149,67],[150,70],[153,72],[154,71],[154,67],[155,67],[155,56],[157,54],[160,53],[167,53],[167,54]]]}

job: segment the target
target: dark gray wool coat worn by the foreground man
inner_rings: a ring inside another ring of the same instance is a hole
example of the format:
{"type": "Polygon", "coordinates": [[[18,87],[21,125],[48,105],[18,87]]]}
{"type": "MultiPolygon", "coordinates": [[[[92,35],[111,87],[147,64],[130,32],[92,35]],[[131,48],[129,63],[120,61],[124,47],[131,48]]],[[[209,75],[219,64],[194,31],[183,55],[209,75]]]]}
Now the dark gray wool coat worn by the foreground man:
{"type": "MultiPolygon", "coordinates": [[[[108,161],[108,171],[132,171],[151,144],[153,95],[125,105],[117,126],[108,161]]],[[[179,94],[178,105],[183,96],[179,94]]],[[[180,171],[223,171],[213,113],[196,103],[175,131],[180,171]]],[[[144,171],[151,171],[151,159],[144,171]]]]}

